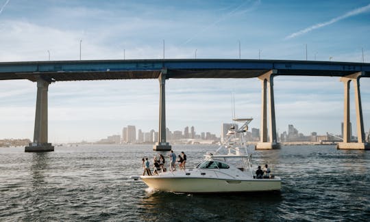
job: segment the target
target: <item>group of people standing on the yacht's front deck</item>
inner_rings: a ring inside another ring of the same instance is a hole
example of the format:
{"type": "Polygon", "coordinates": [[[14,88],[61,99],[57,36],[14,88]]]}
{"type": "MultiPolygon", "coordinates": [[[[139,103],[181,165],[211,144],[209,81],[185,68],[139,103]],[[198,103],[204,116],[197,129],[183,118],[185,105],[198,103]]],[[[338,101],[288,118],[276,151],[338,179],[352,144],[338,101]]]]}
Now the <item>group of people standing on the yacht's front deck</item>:
{"type": "MultiPolygon", "coordinates": [[[[179,163],[180,169],[185,169],[186,154],[184,152],[181,152],[181,154],[178,156],[178,159],[177,159],[176,154],[173,152],[173,150],[171,150],[171,152],[169,154],[169,158],[170,158],[171,171],[176,170],[176,163],[179,163]]],[[[164,167],[165,162],[166,161],[165,161],[164,156],[162,154],[159,154],[159,158],[156,155],[154,155],[154,158],[153,158],[153,166],[154,166],[153,174],[158,175],[158,171],[160,171],[160,172],[167,171],[167,169],[164,167]]],[[[143,176],[145,176],[145,174],[147,174],[148,176],[153,175],[153,174],[151,174],[150,162],[149,162],[149,159],[147,157],[143,158],[143,168],[144,168],[143,176]]]]}

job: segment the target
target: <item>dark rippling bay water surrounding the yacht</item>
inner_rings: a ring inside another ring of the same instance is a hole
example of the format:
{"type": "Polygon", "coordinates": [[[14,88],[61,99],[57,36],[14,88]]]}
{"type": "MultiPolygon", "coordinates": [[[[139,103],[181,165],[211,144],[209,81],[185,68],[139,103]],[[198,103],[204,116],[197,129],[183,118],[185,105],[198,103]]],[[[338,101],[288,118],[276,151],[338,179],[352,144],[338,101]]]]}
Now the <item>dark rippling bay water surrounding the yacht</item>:
{"type": "MultiPolygon", "coordinates": [[[[175,145],[195,165],[215,145],[175,145]]],[[[370,152],[334,146],[257,151],[282,177],[280,193],[188,195],[140,181],[151,145],[0,148],[0,221],[368,221],[370,152]]]]}

